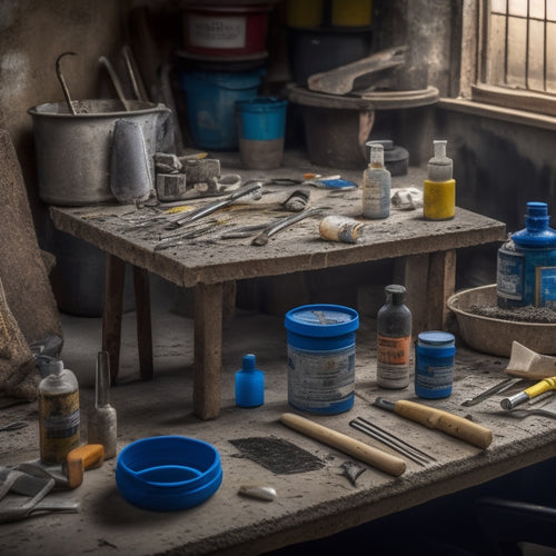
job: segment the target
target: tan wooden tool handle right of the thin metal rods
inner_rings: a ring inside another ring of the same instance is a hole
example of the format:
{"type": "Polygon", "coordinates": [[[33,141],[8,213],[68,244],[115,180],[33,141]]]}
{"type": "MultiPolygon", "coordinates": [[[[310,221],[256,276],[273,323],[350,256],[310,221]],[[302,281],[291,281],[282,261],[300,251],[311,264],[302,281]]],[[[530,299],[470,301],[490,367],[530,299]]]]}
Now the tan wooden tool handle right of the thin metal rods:
{"type": "Polygon", "coordinates": [[[441,430],[483,449],[487,448],[493,441],[493,431],[490,429],[441,409],[400,399],[396,401],[395,411],[428,428],[441,430]]]}

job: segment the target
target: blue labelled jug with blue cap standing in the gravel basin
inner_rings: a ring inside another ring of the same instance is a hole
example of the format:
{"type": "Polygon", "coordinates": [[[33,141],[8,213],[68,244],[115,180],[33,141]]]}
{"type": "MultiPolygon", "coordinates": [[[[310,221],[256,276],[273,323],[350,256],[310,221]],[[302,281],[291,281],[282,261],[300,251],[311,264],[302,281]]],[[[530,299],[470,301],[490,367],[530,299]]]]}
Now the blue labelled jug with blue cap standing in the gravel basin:
{"type": "Polygon", "coordinates": [[[556,309],[556,230],[546,202],[527,202],[525,228],[498,249],[497,304],[556,309]]]}

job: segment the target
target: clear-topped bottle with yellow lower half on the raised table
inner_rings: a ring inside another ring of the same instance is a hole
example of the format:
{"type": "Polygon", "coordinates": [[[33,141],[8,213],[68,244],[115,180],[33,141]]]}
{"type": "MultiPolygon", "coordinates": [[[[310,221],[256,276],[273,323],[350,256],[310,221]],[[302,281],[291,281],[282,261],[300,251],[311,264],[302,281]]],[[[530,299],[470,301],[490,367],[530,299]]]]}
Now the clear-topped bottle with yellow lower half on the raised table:
{"type": "Polygon", "coordinates": [[[433,141],[435,155],[428,161],[423,186],[423,216],[426,220],[450,220],[456,216],[456,180],[453,161],[446,156],[446,140],[433,141]]]}

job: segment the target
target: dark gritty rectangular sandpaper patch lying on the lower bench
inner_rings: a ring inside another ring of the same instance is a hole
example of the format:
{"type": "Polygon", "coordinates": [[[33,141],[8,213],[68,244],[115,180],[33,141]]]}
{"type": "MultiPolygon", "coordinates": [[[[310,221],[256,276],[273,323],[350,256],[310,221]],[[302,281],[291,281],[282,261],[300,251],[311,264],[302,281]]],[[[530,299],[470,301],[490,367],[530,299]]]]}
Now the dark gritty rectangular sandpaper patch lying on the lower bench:
{"type": "Polygon", "coordinates": [[[292,475],[321,469],[325,463],[288,440],[276,437],[250,437],[230,440],[245,457],[276,475],[292,475]]]}

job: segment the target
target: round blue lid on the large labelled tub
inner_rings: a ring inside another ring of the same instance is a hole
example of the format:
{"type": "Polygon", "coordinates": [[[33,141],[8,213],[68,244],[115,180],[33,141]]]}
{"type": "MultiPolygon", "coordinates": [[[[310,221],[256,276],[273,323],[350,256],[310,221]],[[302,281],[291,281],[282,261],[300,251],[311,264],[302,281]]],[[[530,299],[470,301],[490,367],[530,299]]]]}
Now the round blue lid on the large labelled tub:
{"type": "Polygon", "coordinates": [[[327,338],[357,330],[359,315],[341,305],[302,305],[286,314],[285,326],[290,332],[327,338]]]}

